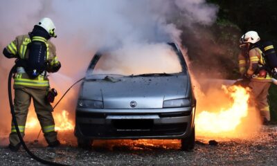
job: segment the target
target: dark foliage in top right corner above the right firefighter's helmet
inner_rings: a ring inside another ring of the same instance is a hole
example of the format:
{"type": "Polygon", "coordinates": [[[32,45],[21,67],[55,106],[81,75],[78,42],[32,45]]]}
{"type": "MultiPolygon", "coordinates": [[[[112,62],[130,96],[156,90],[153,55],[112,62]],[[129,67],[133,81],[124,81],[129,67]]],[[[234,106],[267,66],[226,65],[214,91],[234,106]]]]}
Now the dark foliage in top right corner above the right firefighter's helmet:
{"type": "Polygon", "coordinates": [[[261,39],[277,44],[276,0],[208,0],[220,6],[218,20],[229,20],[246,33],[256,30],[261,39]]]}

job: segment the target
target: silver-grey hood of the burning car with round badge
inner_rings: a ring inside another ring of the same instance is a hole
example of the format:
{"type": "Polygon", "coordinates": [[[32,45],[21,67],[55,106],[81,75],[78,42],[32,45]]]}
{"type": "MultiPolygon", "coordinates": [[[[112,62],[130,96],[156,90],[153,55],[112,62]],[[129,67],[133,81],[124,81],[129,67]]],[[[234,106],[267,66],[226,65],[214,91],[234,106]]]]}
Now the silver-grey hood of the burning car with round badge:
{"type": "Polygon", "coordinates": [[[160,109],[163,100],[189,98],[190,80],[188,75],[105,77],[84,81],[81,92],[83,99],[103,101],[104,109],[160,109]]]}

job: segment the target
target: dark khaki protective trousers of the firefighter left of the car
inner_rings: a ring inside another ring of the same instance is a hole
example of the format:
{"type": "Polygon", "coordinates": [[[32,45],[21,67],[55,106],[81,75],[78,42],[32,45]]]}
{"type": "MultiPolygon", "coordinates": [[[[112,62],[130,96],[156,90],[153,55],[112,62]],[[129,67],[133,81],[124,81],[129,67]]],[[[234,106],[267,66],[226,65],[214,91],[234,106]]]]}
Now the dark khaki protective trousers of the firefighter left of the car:
{"type": "MultiPolygon", "coordinates": [[[[55,132],[55,122],[53,119],[53,108],[49,102],[45,100],[46,89],[33,89],[24,87],[15,89],[15,116],[19,125],[21,136],[24,136],[25,124],[28,115],[28,107],[30,100],[33,98],[35,113],[44,132],[46,142],[51,143],[57,140],[57,132],[55,132]]],[[[19,138],[15,130],[15,124],[12,122],[12,131],[10,133],[10,145],[19,144],[19,138]]]]}

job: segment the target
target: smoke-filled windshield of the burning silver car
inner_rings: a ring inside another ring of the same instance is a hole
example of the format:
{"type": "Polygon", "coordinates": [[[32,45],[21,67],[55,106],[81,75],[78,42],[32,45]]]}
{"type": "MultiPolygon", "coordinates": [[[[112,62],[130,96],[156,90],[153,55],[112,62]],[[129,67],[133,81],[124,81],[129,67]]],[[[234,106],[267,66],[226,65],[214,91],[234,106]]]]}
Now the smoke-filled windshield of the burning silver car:
{"type": "Polygon", "coordinates": [[[149,44],[101,53],[94,68],[89,68],[88,75],[168,76],[182,70],[181,61],[172,46],[149,44]]]}

